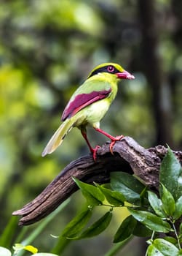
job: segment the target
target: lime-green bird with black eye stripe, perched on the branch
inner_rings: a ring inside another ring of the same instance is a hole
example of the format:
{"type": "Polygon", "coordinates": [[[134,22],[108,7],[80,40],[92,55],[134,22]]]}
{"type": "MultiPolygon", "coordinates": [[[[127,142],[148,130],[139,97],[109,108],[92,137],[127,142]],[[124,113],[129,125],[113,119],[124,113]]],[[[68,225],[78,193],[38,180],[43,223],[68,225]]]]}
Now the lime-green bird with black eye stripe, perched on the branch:
{"type": "Polygon", "coordinates": [[[135,79],[134,75],[124,70],[119,64],[103,63],[95,67],[90,72],[87,80],[82,86],[74,92],[65,110],[61,120],[60,127],[47,143],[41,156],[51,154],[63,142],[64,138],[73,127],[77,127],[82,132],[87,145],[96,159],[96,153],[99,146],[92,148],[87,139],[87,125],[93,127],[96,131],[106,135],[111,139],[110,151],[116,140],[121,140],[123,135],[113,137],[100,129],[100,120],[105,116],[108,108],[116,97],[118,82],[121,79],[135,79]]]}

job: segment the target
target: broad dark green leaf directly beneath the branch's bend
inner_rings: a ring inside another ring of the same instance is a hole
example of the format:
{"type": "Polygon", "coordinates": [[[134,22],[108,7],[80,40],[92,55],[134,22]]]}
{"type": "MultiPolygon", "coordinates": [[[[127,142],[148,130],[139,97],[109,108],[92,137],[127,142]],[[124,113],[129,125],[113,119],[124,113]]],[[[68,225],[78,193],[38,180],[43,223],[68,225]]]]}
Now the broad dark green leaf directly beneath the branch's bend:
{"type": "Polygon", "coordinates": [[[111,173],[111,188],[122,193],[129,203],[137,203],[141,200],[141,192],[145,186],[128,173],[113,172],[111,173]]]}

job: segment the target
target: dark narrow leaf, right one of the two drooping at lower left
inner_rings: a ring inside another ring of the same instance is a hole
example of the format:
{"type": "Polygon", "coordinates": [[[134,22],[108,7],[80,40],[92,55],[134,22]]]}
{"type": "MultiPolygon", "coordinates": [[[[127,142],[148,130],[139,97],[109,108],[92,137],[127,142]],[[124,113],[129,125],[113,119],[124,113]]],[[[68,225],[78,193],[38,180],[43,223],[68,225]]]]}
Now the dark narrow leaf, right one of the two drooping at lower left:
{"type": "Polygon", "coordinates": [[[81,238],[90,238],[92,236],[98,236],[103,230],[106,230],[109,223],[111,222],[112,213],[111,211],[106,212],[97,222],[93,223],[87,230],[80,235],[75,237],[74,239],[81,239],[81,238]]]}

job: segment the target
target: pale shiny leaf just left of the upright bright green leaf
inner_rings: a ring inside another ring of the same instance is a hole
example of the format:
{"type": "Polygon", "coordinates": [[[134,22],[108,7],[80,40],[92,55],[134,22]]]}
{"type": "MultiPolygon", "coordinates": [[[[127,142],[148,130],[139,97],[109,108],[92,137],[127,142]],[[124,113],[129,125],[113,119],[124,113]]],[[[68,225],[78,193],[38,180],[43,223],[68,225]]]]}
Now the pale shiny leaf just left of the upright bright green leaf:
{"type": "Polygon", "coordinates": [[[149,203],[155,213],[159,216],[164,218],[165,213],[162,210],[162,200],[160,200],[157,195],[154,192],[148,191],[148,198],[149,198],[149,203]]]}

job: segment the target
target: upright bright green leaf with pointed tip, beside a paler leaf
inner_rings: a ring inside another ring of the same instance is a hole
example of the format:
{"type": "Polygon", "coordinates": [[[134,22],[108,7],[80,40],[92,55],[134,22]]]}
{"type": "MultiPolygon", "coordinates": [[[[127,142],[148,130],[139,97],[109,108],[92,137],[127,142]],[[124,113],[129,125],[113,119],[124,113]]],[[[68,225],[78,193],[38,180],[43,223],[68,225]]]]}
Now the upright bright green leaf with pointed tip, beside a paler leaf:
{"type": "Polygon", "coordinates": [[[167,216],[172,217],[175,212],[175,200],[173,195],[162,184],[162,208],[167,216]]]}

